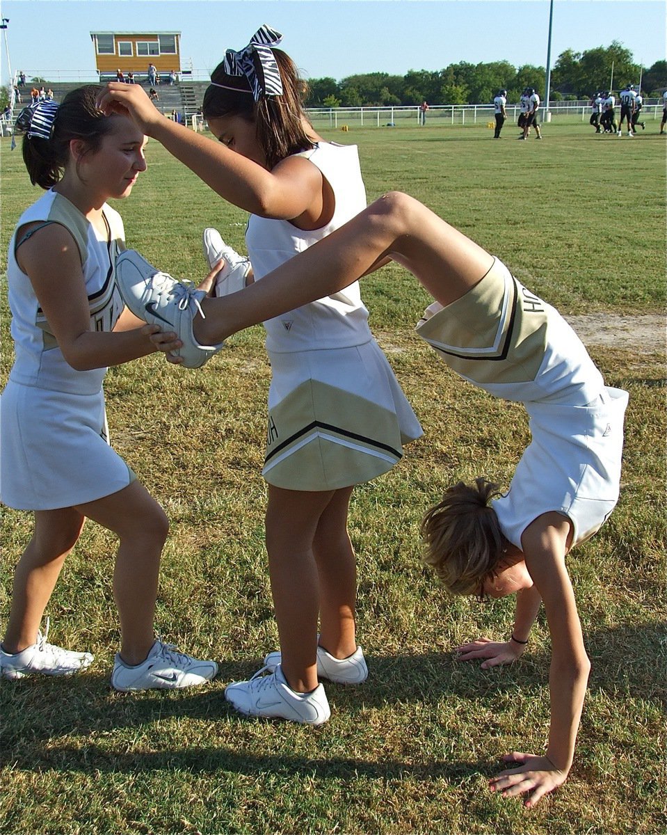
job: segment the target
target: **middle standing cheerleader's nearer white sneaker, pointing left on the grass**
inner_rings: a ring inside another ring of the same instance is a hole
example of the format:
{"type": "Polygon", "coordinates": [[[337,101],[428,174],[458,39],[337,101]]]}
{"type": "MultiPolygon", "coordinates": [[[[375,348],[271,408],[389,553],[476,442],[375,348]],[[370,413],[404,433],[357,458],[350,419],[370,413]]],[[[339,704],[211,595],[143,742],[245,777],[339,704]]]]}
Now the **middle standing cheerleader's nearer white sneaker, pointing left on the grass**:
{"type": "Polygon", "coordinates": [[[287,719],[304,725],[322,725],[331,716],[324,686],[311,693],[296,693],[283,676],[280,664],[275,670],[262,667],[250,681],[232,681],[225,699],[245,716],[287,719]]]}

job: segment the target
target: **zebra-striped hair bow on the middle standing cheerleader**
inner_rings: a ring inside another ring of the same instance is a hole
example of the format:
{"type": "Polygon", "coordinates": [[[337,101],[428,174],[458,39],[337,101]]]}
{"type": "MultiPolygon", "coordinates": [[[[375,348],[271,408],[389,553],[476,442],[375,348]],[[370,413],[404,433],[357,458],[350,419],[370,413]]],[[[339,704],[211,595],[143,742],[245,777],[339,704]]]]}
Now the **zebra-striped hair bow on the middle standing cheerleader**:
{"type": "Polygon", "coordinates": [[[211,82],[214,87],[225,89],[239,89],[252,93],[255,102],[262,96],[281,96],[282,80],[280,70],[271,46],[275,46],[282,40],[280,32],[270,28],[266,24],[260,27],[250,38],[247,47],[235,52],[228,49],[223,62],[223,72],[230,76],[230,84],[218,84],[211,82]],[[239,86],[235,86],[238,79],[239,86]],[[245,84],[250,87],[245,86],[245,84]],[[232,86],[234,85],[234,86],[232,86]]]}

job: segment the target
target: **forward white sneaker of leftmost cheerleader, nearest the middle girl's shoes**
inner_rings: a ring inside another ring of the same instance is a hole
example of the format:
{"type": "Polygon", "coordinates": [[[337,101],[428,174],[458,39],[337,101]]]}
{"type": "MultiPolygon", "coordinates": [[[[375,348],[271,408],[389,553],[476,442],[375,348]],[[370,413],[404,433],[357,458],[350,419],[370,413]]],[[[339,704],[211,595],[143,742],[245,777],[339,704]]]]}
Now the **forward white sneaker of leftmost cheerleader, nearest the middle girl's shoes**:
{"type": "Polygon", "coordinates": [[[158,638],[146,660],[134,667],[116,655],[111,686],[123,692],[196,687],[210,681],[217,671],[215,661],[200,661],[185,655],[176,651],[173,644],[164,644],[158,638]]]}

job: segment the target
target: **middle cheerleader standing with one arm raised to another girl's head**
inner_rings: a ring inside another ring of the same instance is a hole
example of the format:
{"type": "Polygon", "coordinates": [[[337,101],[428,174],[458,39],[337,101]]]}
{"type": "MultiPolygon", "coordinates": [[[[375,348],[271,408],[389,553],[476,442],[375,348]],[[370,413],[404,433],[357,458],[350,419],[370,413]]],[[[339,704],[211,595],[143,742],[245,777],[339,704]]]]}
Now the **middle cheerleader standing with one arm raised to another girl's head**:
{"type": "MultiPolygon", "coordinates": [[[[261,284],[366,207],[356,147],[326,142],[312,129],[305,85],[275,48],[280,40],[263,27],[215,68],[203,113],[217,142],[162,117],[139,87],[110,83],[98,102],[107,113],[129,114],[222,198],[250,212],[252,274],[215,230],[205,231],[210,266],[225,258],[218,296],[253,279],[261,284]]],[[[280,651],[266,656],[266,675],[235,682],[225,696],[249,716],[319,725],[330,716],[320,678],[360,684],[367,675],[355,634],[352,489],[392,468],[422,429],[371,336],[356,282],[310,301],[264,322],[272,379],[262,472],[280,651]]],[[[200,345],[184,361],[196,366],[205,357],[200,345]]]]}

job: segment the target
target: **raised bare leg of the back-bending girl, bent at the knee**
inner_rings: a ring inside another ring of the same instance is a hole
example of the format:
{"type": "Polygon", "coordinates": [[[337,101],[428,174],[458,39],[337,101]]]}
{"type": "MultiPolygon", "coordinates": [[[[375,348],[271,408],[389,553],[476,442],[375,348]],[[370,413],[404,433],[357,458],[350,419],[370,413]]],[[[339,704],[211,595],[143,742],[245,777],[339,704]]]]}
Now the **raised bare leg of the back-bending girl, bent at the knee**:
{"type": "Polygon", "coordinates": [[[407,267],[442,305],[478,283],[493,257],[425,205],[389,192],[346,225],[239,293],[205,299],[202,344],[341,291],[387,257],[407,267]]]}

